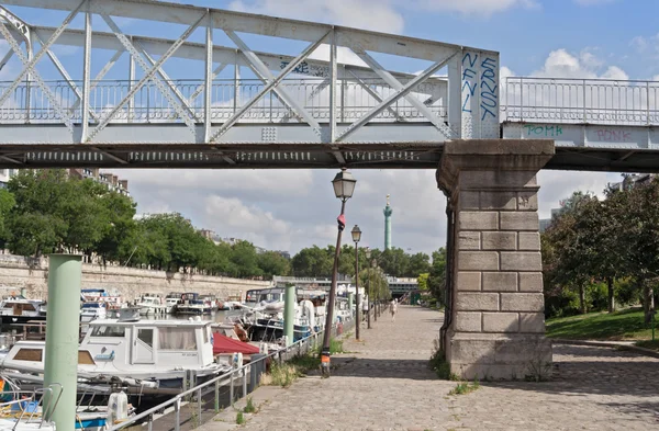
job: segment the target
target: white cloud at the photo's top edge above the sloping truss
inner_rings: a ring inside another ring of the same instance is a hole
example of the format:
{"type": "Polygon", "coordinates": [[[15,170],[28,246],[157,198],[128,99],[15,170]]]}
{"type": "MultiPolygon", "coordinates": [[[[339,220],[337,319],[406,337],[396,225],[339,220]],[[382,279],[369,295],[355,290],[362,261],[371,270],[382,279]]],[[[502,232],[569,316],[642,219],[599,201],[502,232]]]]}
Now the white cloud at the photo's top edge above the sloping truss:
{"type": "Polygon", "coordinates": [[[230,9],[320,21],[350,27],[402,33],[403,16],[390,0],[234,0],[230,9]]]}

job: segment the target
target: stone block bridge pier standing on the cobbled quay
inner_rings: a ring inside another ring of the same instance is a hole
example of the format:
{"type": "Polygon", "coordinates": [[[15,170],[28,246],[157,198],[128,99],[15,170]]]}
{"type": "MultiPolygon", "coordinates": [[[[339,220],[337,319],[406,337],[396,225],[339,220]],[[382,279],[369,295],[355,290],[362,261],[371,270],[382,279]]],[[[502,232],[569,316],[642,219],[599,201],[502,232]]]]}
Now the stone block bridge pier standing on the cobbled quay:
{"type": "Polygon", "coordinates": [[[536,173],[550,140],[455,140],[444,146],[437,183],[453,216],[443,345],[462,378],[546,378],[536,173]]]}

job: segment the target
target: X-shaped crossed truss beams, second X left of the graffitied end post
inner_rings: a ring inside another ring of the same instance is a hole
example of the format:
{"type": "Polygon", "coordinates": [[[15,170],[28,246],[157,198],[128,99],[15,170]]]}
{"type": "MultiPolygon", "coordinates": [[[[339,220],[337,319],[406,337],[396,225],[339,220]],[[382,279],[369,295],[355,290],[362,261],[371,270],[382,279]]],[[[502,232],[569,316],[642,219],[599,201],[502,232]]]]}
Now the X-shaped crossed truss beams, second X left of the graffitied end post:
{"type": "Polygon", "coordinates": [[[310,44],[298,57],[295,57],[295,59],[289,63],[287,67],[284,67],[283,70],[281,70],[281,72],[277,77],[273,77],[272,73],[270,73],[270,71],[268,70],[267,66],[264,65],[264,63],[252,50],[249,50],[247,45],[245,45],[245,43],[235,33],[226,32],[226,35],[232,41],[234,41],[238,48],[243,50],[243,55],[245,55],[245,58],[247,58],[247,60],[252,64],[255,71],[258,70],[266,78],[268,78],[268,84],[265,86],[261,89],[261,91],[259,91],[249,102],[241,106],[241,109],[236,111],[236,113],[234,113],[231,116],[231,118],[228,118],[222,125],[222,127],[220,127],[217,132],[215,132],[213,136],[211,136],[210,141],[214,141],[215,139],[217,139],[217,137],[222,136],[226,131],[228,131],[230,127],[232,127],[256,102],[260,100],[260,98],[263,98],[270,90],[276,91],[281,99],[283,99],[289,105],[293,106],[293,109],[295,109],[298,113],[302,115],[304,120],[306,120],[308,124],[312,126],[314,128],[314,132],[316,132],[316,134],[320,136],[321,125],[319,124],[319,122],[314,117],[312,117],[302,106],[300,106],[298,101],[288,95],[288,93],[282,89],[278,89],[277,86],[283,80],[283,78],[287,77],[288,73],[294,70],[300,65],[300,63],[302,63],[306,57],[309,57],[309,55],[313,53],[323,43],[323,41],[325,39],[325,37],[327,37],[328,34],[330,32],[325,33],[320,39],[310,44]]]}

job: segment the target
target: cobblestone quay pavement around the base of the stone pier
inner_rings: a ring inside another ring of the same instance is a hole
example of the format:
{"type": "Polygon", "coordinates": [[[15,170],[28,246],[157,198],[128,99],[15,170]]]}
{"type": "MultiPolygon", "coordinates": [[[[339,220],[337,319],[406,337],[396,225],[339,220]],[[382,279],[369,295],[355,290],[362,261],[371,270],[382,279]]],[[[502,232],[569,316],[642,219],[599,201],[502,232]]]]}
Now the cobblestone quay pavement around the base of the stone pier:
{"type": "Polygon", "coordinates": [[[351,353],[333,356],[331,378],[299,379],[239,429],[659,430],[659,360],[607,348],[555,345],[552,382],[482,382],[449,396],[456,383],[427,368],[440,319],[400,307],[395,322],[344,343],[351,353]]]}

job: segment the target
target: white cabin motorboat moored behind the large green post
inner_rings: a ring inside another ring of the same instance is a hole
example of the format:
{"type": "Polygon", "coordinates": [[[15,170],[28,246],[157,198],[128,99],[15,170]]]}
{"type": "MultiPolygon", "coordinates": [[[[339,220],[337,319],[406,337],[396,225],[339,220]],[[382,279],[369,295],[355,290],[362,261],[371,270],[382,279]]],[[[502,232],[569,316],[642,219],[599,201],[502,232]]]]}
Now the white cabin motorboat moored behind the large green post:
{"type": "MultiPolygon", "coordinates": [[[[19,341],[0,368],[44,372],[45,342],[19,341]]],[[[211,321],[97,319],[78,349],[78,375],[155,382],[179,388],[186,373],[198,381],[231,370],[213,358],[211,321]]]]}

